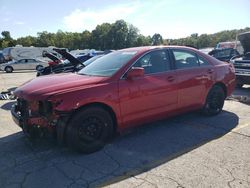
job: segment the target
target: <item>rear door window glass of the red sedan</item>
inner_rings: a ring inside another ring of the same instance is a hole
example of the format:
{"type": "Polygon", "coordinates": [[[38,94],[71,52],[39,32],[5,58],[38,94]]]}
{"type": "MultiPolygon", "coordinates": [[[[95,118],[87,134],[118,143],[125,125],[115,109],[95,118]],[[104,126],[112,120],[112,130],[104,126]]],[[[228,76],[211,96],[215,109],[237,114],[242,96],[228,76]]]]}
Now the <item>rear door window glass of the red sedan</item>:
{"type": "Polygon", "coordinates": [[[187,69],[192,67],[199,67],[199,61],[196,54],[186,50],[173,49],[175,58],[175,65],[177,69],[187,69]]]}

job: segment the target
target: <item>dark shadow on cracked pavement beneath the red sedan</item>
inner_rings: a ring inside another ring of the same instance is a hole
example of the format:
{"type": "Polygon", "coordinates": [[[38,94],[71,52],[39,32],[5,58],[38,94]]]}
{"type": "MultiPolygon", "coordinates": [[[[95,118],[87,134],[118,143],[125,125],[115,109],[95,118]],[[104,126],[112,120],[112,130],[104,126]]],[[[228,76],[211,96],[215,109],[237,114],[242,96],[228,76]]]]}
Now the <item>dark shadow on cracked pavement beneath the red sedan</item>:
{"type": "Polygon", "coordinates": [[[30,142],[16,133],[0,138],[0,187],[95,187],[155,168],[221,137],[238,125],[238,116],[196,113],[130,129],[99,152],[83,155],[55,140],[30,142]]]}

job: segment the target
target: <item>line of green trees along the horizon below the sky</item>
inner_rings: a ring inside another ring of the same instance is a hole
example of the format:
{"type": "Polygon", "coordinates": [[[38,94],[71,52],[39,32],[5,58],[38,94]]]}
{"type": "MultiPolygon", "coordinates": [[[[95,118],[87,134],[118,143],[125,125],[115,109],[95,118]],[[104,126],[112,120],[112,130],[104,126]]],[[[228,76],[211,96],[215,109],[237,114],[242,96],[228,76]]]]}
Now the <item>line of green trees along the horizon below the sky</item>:
{"type": "Polygon", "coordinates": [[[239,30],[221,31],[215,34],[191,34],[189,37],[180,39],[163,39],[161,34],[155,33],[153,36],[140,34],[139,29],[124,20],[103,23],[97,25],[93,31],[63,32],[56,33],[47,31],[38,32],[37,36],[26,36],[13,39],[9,31],[2,31],[0,37],[0,49],[15,46],[56,46],[68,49],[122,49],[134,46],[148,45],[187,45],[195,48],[214,47],[218,42],[234,41],[237,34],[249,31],[250,28],[239,30]]]}

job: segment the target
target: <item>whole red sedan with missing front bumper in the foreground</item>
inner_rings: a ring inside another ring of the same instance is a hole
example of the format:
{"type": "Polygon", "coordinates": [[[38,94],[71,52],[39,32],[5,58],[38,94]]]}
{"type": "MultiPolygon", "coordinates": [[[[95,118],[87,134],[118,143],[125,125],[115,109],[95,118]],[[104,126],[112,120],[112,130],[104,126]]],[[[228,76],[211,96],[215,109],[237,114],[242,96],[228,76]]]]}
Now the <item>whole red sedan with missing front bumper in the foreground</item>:
{"type": "Polygon", "coordinates": [[[234,87],[231,64],[193,48],[128,48],[78,73],[25,83],[14,92],[11,112],[28,135],[49,130],[60,143],[89,153],[123,128],[197,109],[216,115],[234,87]]]}

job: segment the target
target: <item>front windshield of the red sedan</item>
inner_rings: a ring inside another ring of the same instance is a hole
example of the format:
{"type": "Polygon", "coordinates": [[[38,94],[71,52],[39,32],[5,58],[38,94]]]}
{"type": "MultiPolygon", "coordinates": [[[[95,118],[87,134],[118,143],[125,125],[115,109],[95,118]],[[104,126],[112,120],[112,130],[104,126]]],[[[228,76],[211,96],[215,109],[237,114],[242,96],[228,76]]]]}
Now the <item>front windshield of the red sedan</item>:
{"type": "Polygon", "coordinates": [[[136,52],[137,51],[116,51],[110,53],[95,60],[78,73],[90,76],[112,76],[123,65],[125,65],[136,54],[136,52]]]}

